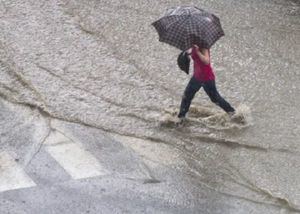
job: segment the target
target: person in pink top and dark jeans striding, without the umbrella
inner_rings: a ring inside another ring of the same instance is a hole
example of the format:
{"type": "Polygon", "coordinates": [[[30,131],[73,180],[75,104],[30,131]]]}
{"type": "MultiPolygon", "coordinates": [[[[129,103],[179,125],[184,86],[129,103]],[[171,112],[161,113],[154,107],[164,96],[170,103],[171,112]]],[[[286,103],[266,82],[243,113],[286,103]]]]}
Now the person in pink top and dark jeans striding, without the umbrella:
{"type": "Polygon", "coordinates": [[[210,100],[220,106],[230,116],[235,109],[219,94],[215,84],[215,75],[210,63],[210,50],[193,45],[189,53],[194,61],[194,74],[189,81],[182,97],[178,118],[180,122],[189,111],[191,102],[201,87],[203,87],[210,100]]]}

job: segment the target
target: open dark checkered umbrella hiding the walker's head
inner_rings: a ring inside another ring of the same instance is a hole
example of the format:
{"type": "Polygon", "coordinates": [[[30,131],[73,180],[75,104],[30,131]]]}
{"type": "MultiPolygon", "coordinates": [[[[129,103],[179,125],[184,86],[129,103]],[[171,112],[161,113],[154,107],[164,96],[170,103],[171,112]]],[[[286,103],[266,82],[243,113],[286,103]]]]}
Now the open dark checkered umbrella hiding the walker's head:
{"type": "Polygon", "coordinates": [[[168,9],[164,16],[152,25],[158,32],[159,41],[183,51],[191,48],[193,44],[210,48],[224,36],[217,16],[191,6],[168,9]]]}

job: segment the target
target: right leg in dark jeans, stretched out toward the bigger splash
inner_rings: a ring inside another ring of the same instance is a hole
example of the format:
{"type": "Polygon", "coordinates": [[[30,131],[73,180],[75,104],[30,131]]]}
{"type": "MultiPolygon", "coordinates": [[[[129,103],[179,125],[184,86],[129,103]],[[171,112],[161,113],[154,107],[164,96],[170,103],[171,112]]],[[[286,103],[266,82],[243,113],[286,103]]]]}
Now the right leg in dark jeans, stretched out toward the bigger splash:
{"type": "Polygon", "coordinates": [[[203,88],[212,102],[220,106],[227,113],[235,112],[235,109],[217,91],[214,80],[204,82],[203,88]]]}

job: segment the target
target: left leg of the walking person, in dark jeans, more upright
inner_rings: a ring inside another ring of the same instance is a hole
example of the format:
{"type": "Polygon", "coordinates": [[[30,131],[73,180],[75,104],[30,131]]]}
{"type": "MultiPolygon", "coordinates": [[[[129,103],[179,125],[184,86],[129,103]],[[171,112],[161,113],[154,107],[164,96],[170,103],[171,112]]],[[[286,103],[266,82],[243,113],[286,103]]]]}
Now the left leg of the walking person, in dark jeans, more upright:
{"type": "Polygon", "coordinates": [[[197,81],[194,77],[191,78],[188,85],[185,88],[178,117],[185,117],[186,113],[189,111],[192,99],[195,94],[201,88],[201,83],[197,81]]]}

